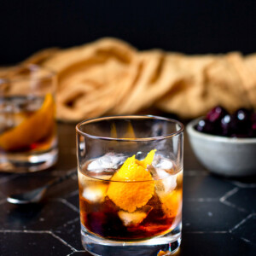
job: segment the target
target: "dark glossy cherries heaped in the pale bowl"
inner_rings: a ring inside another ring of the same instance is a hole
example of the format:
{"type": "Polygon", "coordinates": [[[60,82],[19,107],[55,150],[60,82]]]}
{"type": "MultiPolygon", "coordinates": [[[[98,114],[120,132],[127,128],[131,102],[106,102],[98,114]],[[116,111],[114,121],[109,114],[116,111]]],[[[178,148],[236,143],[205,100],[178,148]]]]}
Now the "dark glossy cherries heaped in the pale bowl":
{"type": "Polygon", "coordinates": [[[217,106],[195,125],[195,129],[224,137],[256,137],[256,113],[246,108],[228,113],[217,106]]]}

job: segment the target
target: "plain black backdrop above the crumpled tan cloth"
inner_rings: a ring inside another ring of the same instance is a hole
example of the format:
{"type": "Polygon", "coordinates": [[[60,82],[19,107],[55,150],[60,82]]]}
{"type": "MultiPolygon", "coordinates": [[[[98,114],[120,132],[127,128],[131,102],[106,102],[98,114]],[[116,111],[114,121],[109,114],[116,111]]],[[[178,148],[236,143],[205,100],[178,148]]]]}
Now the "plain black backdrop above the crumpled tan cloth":
{"type": "Polygon", "coordinates": [[[187,54],[256,51],[255,0],[0,0],[0,64],[106,36],[187,54]]]}

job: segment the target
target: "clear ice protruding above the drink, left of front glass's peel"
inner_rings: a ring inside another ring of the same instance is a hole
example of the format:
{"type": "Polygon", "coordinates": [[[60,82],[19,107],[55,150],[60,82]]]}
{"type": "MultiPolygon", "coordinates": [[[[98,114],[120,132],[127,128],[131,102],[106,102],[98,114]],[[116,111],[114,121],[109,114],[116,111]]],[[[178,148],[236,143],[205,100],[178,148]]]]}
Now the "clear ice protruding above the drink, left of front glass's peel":
{"type": "Polygon", "coordinates": [[[117,169],[125,160],[127,156],[124,154],[104,154],[102,157],[93,160],[88,165],[88,171],[102,171],[103,169],[117,169]]]}

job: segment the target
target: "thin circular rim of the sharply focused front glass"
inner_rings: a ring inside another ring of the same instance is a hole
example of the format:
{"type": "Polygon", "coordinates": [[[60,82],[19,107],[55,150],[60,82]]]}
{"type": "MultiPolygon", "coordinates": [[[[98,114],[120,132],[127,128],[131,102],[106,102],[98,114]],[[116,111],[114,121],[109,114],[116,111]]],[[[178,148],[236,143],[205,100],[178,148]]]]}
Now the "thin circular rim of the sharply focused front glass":
{"type": "Polygon", "coordinates": [[[149,142],[149,141],[157,141],[157,140],[163,140],[170,137],[175,137],[184,131],[184,125],[176,120],[176,119],[169,119],[166,117],[160,117],[157,115],[113,115],[113,116],[106,116],[106,117],[100,117],[100,118],[94,118],[94,119],[85,119],[81,122],[79,122],[78,125],[76,125],[76,132],[84,137],[90,137],[93,139],[101,139],[105,141],[118,141],[118,142],[149,142]],[[142,137],[142,138],[114,138],[114,137],[101,137],[96,135],[91,135],[89,133],[86,133],[84,131],[80,131],[80,127],[85,124],[90,123],[96,123],[97,121],[102,120],[108,120],[108,119],[158,119],[158,120],[164,120],[170,123],[174,123],[180,126],[178,131],[163,135],[163,136],[157,136],[157,137],[142,137]]]}

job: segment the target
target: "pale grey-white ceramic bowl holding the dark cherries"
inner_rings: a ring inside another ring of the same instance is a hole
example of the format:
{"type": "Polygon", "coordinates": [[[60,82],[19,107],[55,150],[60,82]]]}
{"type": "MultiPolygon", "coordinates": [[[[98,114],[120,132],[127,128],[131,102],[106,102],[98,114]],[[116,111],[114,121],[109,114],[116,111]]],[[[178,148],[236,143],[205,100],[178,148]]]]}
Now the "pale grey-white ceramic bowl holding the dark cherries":
{"type": "Polygon", "coordinates": [[[256,175],[256,138],[220,137],[195,130],[200,119],[187,125],[189,142],[201,164],[218,175],[256,175]]]}

